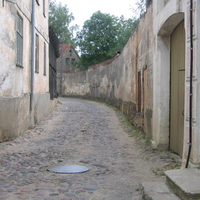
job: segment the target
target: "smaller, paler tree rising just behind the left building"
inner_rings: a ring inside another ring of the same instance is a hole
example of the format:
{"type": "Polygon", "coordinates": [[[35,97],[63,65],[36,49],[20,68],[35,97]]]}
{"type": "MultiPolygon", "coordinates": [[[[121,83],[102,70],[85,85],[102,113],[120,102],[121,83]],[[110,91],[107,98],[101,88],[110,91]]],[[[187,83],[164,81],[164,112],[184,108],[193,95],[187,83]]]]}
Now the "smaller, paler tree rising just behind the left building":
{"type": "Polygon", "coordinates": [[[70,27],[70,23],[74,20],[72,13],[69,13],[67,5],[56,3],[50,0],[49,3],[49,25],[53,27],[58,39],[62,43],[74,43],[73,30],[77,26],[70,27]]]}

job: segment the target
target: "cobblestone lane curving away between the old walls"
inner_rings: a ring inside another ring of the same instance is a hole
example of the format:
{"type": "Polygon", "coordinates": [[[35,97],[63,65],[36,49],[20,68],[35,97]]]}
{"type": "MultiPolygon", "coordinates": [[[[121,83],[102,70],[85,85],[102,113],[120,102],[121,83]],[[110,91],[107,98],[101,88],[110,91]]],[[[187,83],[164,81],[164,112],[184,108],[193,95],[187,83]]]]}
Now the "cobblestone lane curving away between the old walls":
{"type": "Polygon", "coordinates": [[[92,101],[60,98],[40,124],[0,144],[0,200],[139,200],[143,181],[164,181],[177,157],[136,142],[123,116],[92,101]],[[85,173],[48,168],[74,164],[85,173]]]}

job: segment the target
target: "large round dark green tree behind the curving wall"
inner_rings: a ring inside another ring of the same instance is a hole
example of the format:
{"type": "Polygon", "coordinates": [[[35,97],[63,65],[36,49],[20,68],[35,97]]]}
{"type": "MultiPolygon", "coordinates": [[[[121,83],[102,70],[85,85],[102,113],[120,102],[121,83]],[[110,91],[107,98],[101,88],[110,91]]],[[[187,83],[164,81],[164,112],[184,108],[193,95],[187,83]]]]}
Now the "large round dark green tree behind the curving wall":
{"type": "Polygon", "coordinates": [[[80,66],[87,68],[114,56],[128,41],[137,21],[125,20],[97,11],[85,21],[77,33],[77,45],[81,52],[80,66]]]}

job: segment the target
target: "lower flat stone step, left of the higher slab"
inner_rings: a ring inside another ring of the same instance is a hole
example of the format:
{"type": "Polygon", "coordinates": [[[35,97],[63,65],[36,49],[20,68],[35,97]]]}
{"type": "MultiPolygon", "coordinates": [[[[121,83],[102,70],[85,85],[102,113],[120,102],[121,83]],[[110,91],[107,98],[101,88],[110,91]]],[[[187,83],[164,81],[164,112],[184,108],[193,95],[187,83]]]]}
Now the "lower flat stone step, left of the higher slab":
{"type": "Polygon", "coordinates": [[[144,182],[141,190],[145,200],[180,200],[164,182],[144,182]]]}

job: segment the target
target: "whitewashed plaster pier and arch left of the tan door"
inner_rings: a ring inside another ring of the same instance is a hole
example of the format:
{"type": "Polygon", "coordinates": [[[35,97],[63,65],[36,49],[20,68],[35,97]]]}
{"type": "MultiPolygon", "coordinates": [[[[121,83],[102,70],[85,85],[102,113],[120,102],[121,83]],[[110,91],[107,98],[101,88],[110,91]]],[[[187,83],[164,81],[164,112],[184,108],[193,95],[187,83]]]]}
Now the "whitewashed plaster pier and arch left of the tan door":
{"type": "Polygon", "coordinates": [[[153,145],[169,148],[170,115],[170,37],[184,20],[184,1],[153,3],[154,70],[153,70],[153,145]]]}

